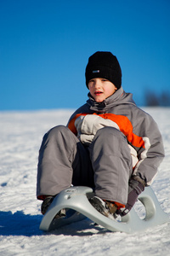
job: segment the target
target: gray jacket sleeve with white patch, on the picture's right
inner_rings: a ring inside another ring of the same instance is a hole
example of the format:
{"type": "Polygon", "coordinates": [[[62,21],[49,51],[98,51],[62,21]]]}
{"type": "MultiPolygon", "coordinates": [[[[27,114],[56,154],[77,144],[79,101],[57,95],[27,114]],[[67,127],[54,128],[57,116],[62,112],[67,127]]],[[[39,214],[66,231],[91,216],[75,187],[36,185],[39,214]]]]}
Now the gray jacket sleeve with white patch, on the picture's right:
{"type": "Polygon", "coordinates": [[[139,162],[133,173],[142,177],[145,183],[150,185],[163,160],[164,147],[161,133],[154,119],[144,113],[144,116],[138,120],[138,124],[133,127],[133,132],[143,138],[144,147],[136,148],[139,162]]]}

